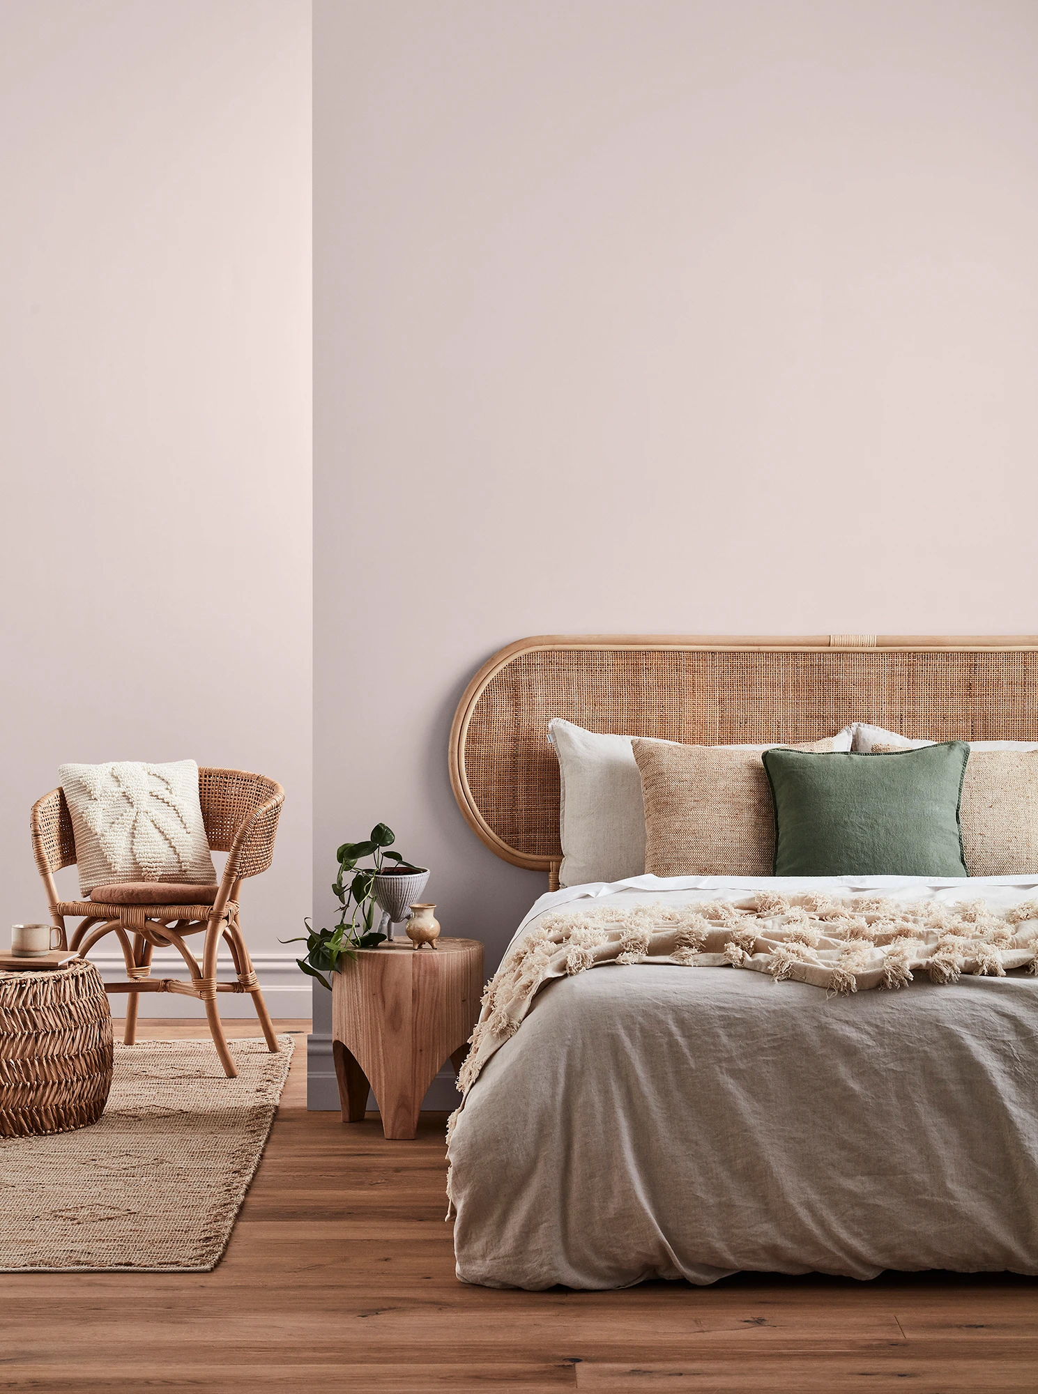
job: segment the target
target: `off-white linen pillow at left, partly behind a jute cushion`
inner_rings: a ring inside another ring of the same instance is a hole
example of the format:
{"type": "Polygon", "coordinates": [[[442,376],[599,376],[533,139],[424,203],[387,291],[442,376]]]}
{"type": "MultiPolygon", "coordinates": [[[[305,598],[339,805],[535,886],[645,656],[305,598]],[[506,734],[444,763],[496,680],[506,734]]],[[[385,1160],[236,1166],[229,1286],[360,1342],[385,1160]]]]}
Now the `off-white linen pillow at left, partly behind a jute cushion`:
{"type": "MultiPolygon", "coordinates": [[[[645,875],[645,803],[632,737],[600,735],[552,717],[548,740],[558,756],[562,842],[558,884],[585,885],[645,875]]],[[[767,750],[767,746],[725,749],[767,750]]],[[[851,728],[844,726],[833,736],[833,750],[850,749],[851,728]]]]}

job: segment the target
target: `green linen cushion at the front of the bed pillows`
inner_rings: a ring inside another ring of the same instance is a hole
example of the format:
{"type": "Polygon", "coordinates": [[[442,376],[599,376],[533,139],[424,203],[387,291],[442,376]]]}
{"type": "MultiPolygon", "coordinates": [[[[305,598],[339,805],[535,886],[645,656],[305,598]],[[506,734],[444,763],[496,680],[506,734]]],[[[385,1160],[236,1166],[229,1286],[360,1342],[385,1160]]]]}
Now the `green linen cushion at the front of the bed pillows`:
{"type": "Polygon", "coordinates": [[[774,875],[968,875],[958,803],[970,746],[897,754],[766,750],[774,875]]]}

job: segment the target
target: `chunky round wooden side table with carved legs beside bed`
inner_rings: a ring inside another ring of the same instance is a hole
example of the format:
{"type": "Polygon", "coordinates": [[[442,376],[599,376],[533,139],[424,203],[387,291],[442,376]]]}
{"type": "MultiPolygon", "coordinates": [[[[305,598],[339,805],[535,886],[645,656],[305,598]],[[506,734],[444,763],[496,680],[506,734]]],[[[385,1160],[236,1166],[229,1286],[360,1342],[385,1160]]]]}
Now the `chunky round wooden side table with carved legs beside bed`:
{"type": "Polygon", "coordinates": [[[357,949],[332,981],[332,1052],[342,1121],[364,1121],[368,1085],[386,1138],[410,1139],[426,1090],[449,1057],[469,1052],[480,1015],[483,945],[437,940],[412,948],[391,940],[357,949]]]}

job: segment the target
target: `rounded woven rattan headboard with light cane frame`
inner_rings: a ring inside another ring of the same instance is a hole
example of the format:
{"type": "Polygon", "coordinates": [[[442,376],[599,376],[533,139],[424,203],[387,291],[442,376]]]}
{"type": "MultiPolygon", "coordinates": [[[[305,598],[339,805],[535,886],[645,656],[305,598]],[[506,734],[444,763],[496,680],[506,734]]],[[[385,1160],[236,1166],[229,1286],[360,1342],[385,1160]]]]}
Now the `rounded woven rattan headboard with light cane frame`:
{"type": "Polygon", "coordinates": [[[520,638],[465,690],[451,785],[492,852],[550,873],[561,857],[551,717],[695,744],[815,740],[851,721],[936,740],[1038,740],[1038,636],[520,638]]]}

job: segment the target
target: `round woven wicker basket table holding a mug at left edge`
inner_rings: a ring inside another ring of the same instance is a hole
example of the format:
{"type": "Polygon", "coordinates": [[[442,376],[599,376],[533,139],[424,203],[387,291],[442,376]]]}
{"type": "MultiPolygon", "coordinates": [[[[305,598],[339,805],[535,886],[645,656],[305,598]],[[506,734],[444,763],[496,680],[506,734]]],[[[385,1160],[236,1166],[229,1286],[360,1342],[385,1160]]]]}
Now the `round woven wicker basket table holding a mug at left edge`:
{"type": "Polygon", "coordinates": [[[93,965],[0,976],[0,1136],[95,1124],[110,1087],[112,1013],[93,965]]]}

